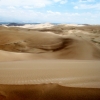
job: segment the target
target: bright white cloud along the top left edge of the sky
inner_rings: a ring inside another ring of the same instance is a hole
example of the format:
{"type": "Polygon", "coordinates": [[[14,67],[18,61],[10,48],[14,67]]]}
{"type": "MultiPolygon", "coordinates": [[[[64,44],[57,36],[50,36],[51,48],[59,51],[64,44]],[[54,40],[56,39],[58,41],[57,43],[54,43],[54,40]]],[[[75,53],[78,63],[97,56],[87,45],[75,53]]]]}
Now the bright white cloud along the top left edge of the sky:
{"type": "Polygon", "coordinates": [[[26,6],[31,5],[33,7],[45,7],[51,4],[51,0],[2,0],[0,5],[3,6],[26,6]]]}

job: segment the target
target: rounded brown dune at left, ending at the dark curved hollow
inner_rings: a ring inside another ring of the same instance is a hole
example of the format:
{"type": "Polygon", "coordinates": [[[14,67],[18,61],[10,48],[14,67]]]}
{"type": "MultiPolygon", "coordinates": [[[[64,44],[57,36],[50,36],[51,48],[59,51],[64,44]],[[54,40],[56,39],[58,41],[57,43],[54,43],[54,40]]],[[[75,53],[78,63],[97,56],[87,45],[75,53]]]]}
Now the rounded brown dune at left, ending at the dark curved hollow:
{"type": "MultiPolygon", "coordinates": [[[[41,49],[58,49],[63,44],[63,38],[54,34],[46,32],[16,32],[16,31],[1,31],[0,32],[0,48],[8,51],[11,49],[18,49],[29,47],[31,48],[41,48],[41,49]],[[15,45],[15,47],[14,47],[15,45]]],[[[27,48],[28,49],[28,48],[27,48]]],[[[14,50],[12,50],[14,51],[14,50]]]]}

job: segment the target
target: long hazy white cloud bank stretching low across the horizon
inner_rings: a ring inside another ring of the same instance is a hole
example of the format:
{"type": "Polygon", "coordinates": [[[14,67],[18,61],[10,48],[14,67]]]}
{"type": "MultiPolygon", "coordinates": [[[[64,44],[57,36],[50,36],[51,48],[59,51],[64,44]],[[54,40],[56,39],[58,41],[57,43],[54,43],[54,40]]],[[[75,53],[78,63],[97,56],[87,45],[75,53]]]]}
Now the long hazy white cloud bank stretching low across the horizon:
{"type": "MultiPolygon", "coordinates": [[[[39,12],[34,10],[14,9],[14,10],[2,10],[0,9],[1,17],[8,18],[8,21],[14,21],[15,19],[20,22],[50,22],[50,23],[87,23],[98,24],[100,23],[100,13],[71,13],[71,12],[59,12],[48,10],[46,12],[39,12]],[[90,17],[91,16],[91,17],[90,17]]],[[[6,18],[6,20],[7,20],[6,18]]],[[[0,20],[1,21],[1,20],[0,20]]]]}

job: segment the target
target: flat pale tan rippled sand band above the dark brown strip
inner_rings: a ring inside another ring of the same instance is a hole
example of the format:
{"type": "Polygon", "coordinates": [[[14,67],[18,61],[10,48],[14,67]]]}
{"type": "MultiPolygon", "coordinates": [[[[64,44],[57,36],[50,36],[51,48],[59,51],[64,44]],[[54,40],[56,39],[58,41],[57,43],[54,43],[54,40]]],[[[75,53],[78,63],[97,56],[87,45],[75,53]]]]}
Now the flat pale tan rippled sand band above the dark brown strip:
{"type": "Polygon", "coordinates": [[[59,83],[100,88],[100,62],[34,60],[0,63],[0,84],[59,83]]]}

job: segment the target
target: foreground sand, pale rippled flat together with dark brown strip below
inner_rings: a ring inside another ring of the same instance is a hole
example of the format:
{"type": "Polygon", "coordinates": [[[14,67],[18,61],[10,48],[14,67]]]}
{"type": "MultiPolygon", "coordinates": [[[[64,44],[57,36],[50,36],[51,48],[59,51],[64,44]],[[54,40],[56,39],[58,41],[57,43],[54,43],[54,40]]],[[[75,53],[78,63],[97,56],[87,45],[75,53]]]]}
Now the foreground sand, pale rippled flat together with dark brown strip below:
{"type": "Polygon", "coordinates": [[[1,62],[0,93],[0,100],[99,100],[100,62],[1,62]]]}

